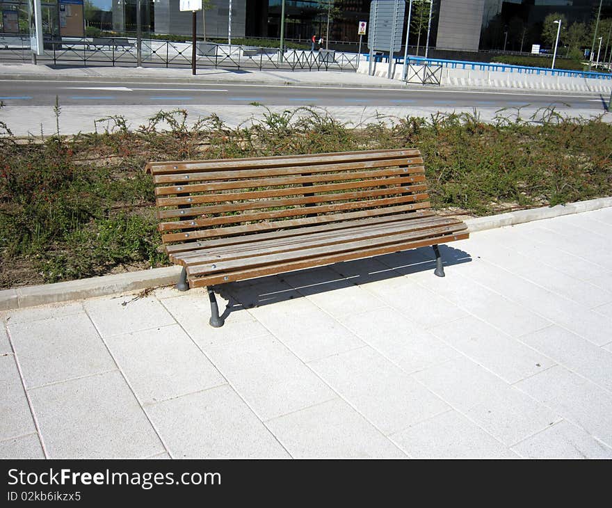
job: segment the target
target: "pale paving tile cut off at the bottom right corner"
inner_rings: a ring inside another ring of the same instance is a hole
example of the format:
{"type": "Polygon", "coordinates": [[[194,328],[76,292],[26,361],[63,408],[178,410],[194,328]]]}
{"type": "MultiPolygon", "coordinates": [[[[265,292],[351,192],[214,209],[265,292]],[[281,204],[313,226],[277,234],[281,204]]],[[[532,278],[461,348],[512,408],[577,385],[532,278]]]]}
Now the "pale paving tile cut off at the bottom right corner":
{"type": "Polygon", "coordinates": [[[526,459],[612,458],[612,448],[565,420],[527,438],[512,449],[526,459]]]}

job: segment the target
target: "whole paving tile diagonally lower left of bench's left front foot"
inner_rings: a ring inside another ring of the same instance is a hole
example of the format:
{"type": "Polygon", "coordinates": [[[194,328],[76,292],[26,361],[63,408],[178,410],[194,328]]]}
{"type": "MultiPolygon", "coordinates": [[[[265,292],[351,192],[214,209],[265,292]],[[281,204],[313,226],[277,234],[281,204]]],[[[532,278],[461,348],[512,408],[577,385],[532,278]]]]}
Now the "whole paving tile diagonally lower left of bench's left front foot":
{"type": "Polygon", "coordinates": [[[106,344],[142,404],[226,383],[177,324],[112,335],[106,344]]]}

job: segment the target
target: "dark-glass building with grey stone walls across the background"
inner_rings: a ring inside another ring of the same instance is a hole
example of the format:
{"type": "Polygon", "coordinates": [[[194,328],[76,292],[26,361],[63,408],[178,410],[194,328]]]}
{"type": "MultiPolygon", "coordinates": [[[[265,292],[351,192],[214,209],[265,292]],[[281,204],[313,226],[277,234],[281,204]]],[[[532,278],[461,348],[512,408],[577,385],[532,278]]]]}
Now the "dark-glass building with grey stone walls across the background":
{"type": "MultiPolygon", "coordinates": [[[[179,0],[141,1],[143,31],[191,35],[191,13],[179,11],[179,0]]],[[[414,3],[420,1],[414,0],[414,3]]],[[[225,39],[229,0],[210,2],[211,9],[198,13],[198,35],[204,33],[202,20],[205,19],[206,37],[225,39]]],[[[355,45],[359,40],[358,22],[369,19],[370,2],[286,0],[284,36],[296,41],[307,41],[312,35],[325,37],[330,13],[330,42],[355,45]]],[[[232,0],[232,38],[280,38],[281,5],[282,0],[232,0]]],[[[599,0],[433,0],[429,45],[438,51],[527,51],[532,44],[541,42],[546,15],[561,13],[569,24],[590,24],[597,16],[598,7],[599,0]]],[[[612,0],[602,0],[602,19],[606,17],[612,18],[612,0]]],[[[136,30],[136,0],[113,0],[113,28],[118,32],[136,30]]],[[[426,26],[418,32],[413,24],[410,45],[424,47],[426,26]]],[[[367,36],[364,48],[367,48],[367,36]]]]}

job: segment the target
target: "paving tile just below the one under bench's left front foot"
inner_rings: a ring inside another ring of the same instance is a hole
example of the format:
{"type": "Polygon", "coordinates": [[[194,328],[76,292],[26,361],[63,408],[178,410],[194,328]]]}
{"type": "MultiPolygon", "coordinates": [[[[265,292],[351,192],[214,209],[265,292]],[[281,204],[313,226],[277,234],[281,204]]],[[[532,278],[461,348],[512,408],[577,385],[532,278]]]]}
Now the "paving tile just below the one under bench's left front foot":
{"type": "Polygon", "coordinates": [[[211,349],[209,358],[264,421],[336,396],[271,335],[211,349]]]}

